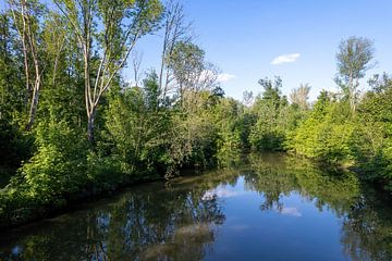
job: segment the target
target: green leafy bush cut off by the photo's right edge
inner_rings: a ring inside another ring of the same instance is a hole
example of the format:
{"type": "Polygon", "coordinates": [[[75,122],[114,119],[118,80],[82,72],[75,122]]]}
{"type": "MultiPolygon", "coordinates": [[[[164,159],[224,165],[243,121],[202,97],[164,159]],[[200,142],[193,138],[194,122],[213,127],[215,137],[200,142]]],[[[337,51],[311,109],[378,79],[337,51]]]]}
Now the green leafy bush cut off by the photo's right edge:
{"type": "Polygon", "coordinates": [[[378,90],[368,92],[358,108],[356,158],[366,178],[392,191],[392,88],[383,78],[378,90]]]}

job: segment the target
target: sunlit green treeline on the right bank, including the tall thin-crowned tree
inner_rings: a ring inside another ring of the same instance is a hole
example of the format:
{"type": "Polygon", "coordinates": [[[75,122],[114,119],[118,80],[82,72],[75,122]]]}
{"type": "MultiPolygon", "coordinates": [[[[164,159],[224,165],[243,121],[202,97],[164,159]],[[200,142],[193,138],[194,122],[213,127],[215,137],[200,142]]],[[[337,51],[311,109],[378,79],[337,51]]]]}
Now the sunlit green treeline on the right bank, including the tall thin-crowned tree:
{"type": "Polygon", "coordinates": [[[307,84],[294,88],[287,99],[280,77],[260,79],[261,95],[253,99],[252,92],[244,92],[244,103],[250,105],[242,120],[247,126],[243,144],[347,166],[391,192],[392,78],[373,75],[363,86],[366,91],[359,90],[359,80],[375,64],[373,52],[367,38],[342,40],[336,52],[339,91],[322,90],[313,104],[307,84]]]}

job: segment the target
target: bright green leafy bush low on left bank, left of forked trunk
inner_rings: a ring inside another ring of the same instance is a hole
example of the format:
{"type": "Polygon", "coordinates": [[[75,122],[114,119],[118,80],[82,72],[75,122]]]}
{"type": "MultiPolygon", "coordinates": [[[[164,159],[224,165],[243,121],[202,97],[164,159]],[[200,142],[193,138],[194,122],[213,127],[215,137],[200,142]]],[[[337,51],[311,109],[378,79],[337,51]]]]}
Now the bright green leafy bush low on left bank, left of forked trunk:
{"type": "Polygon", "coordinates": [[[36,147],[35,156],[20,170],[29,197],[57,203],[83,187],[87,147],[79,133],[65,121],[44,121],[36,129],[36,147]]]}

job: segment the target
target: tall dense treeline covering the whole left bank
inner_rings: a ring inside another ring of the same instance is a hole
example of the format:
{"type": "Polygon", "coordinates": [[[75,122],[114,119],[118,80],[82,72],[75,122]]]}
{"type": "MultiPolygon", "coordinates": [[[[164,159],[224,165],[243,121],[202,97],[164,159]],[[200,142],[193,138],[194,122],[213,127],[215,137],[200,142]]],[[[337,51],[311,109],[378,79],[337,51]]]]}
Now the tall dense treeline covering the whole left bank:
{"type": "Polygon", "coordinates": [[[5,7],[0,226],[215,164],[225,100],[181,3],[9,0],[5,7]],[[135,47],[150,34],[162,36],[161,65],[144,74],[135,47]],[[131,84],[124,66],[134,72],[131,84]]]}

